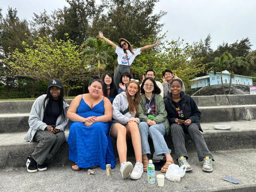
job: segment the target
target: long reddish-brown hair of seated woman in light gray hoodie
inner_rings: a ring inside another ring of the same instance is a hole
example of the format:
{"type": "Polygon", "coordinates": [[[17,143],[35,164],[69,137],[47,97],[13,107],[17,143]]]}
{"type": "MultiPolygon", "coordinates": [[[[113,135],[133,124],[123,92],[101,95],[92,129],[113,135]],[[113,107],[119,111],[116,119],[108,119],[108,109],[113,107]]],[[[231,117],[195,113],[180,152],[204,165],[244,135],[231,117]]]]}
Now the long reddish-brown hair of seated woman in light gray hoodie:
{"type": "Polygon", "coordinates": [[[129,113],[135,114],[135,117],[138,117],[138,111],[139,111],[139,103],[140,103],[140,84],[136,80],[131,80],[128,83],[128,87],[130,83],[135,83],[138,86],[138,92],[134,95],[134,99],[132,99],[132,96],[128,93],[128,90],[126,91],[126,97],[129,105],[129,113]]]}

